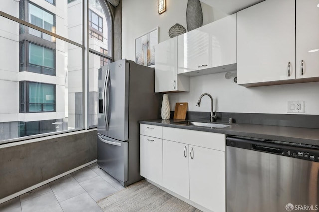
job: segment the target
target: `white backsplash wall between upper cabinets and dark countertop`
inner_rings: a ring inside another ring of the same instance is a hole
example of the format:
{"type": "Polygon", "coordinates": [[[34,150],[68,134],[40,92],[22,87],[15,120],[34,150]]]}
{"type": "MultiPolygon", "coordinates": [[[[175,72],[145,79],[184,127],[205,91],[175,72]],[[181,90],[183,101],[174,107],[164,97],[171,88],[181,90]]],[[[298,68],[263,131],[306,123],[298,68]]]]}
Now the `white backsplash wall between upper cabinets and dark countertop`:
{"type": "Polygon", "coordinates": [[[246,88],[233,79],[225,79],[225,73],[191,77],[190,92],[168,95],[170,108],[175,110],[176,102],[188,102],[188,111],[209,112],[207,96],[196,106],[199,96],[209,93],[217,112],[293,114],[287,113],[287,101],[304,100],[303,114],[319,115],[319,82],[246,88]]]}

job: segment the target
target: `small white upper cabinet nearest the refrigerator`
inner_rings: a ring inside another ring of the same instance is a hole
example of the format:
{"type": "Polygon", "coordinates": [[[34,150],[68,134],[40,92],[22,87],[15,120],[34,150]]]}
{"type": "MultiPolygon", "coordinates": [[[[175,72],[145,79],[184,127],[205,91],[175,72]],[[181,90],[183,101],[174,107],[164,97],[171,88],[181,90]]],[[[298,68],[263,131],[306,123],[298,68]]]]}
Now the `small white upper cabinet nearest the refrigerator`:
{"type": "Polygon", "coordinates": [[[177,75],[177,37],[155,45],[155,92],[189,91],[189,77],[177,75]]]}

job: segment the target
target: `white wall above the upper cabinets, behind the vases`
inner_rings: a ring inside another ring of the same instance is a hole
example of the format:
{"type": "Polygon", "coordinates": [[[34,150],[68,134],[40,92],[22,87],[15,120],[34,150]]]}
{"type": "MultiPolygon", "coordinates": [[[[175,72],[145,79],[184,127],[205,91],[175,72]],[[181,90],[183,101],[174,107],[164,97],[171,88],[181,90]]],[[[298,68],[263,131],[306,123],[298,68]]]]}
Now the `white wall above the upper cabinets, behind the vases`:
{"type": "MultiPolygon", "coordinates": [[[[167,10],[157,13],[157,0],[123,0],[122,2],[122,58],[135,58],[135,38],[160,28],[160,42],[170,39],[168,30],[176,23],[187,30],[187,0],[166,0],[167,10]]],[[[223,12],[201,3],[203,25],[227,16],[223,12]]]]}

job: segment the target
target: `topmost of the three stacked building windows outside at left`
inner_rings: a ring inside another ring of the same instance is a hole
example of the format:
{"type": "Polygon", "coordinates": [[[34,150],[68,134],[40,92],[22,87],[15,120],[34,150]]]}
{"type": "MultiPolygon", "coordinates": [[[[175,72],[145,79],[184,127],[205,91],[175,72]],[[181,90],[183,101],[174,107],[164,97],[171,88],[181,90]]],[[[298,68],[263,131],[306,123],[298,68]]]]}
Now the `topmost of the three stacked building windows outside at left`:
{"type": "MultiPolygon", "coordinates": [[[[47,0],[48,2],[54,0],[47,0]]],[[[55,33],[55,15],[27,0],[20,2],[20,18],[42,29],[55,33]]],[[[24,27],[25,28],[25,27],[24,27]]],[[[48,41],[53,41],[50,35],[40,32],[36,29],[27,27],[28,33],[48,41]]],[[[27,32],[21,27],[21,33],[27,32]]]]}

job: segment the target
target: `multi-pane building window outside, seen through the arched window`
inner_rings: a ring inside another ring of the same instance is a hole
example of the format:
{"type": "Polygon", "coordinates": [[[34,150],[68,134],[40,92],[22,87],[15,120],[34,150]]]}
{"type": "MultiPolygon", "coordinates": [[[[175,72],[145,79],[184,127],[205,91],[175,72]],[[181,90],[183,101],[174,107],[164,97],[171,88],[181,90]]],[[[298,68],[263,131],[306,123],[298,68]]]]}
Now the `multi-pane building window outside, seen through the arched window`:
{"type": "Polygon", "coordinates": [[[89,34],[91,38],[103,41],[103,18],[89,9],[89,34]]]}

